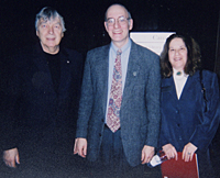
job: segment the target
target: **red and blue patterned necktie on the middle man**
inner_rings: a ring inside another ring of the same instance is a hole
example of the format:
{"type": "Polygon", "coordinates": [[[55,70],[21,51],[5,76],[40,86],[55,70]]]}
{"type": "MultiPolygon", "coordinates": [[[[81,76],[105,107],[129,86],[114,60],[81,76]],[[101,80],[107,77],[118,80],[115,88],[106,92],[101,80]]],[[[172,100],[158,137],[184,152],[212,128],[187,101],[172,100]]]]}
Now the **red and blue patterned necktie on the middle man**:
{"type": "Polygon", "coordinates": [[[122,100],[121,53],[121,49],[117,51],[117,58],[113,67],[113,77],[107,113],[107,125],[113,133],[120,129],[120,108],[122,100]]]}

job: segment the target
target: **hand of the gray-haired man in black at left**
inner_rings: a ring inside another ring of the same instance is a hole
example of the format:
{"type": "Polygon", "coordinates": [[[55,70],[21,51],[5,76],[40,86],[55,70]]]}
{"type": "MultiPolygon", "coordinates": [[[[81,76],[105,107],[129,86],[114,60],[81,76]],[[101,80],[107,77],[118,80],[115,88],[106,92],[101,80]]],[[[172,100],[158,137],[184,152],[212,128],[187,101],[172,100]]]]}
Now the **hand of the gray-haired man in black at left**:
{"type": "Polygon", "coordinates": [[[20,164],[19,160],[19,151],[18,148],[12,148],[3,152],[3,162],[9,167],[16,167],[16,164],[20,164]]]}

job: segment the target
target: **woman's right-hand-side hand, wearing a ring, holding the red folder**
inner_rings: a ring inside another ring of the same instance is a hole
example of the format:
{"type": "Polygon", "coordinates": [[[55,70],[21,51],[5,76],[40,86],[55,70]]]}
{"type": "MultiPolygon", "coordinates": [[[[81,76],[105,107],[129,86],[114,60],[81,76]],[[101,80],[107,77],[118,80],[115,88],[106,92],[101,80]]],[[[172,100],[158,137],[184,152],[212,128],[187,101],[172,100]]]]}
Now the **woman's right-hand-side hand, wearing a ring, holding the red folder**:
{"type": "Polygon", "coordinates": [[[191,143],[188,143],[184,146],[184,151],[183,151],[183,155],[182,155],[182,158],[185,160],[185,162],[191,162],[193,160],[193,157],[194,157],[194,153],[197,151],[197,147],[191,144],[191,143]]]}

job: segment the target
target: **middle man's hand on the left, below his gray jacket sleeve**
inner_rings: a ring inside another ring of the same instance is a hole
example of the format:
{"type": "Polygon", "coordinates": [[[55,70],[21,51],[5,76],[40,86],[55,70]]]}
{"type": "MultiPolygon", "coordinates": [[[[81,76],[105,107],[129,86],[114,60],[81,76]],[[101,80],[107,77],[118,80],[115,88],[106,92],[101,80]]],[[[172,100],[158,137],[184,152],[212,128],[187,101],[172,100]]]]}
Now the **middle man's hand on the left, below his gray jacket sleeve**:
{"type": "Polygon", "coordinates": [[[74,154],[78,154],[81,157],[86,157],[87,155],[87,140],[78,137],[75,140],[74,144],[74,154]]]}

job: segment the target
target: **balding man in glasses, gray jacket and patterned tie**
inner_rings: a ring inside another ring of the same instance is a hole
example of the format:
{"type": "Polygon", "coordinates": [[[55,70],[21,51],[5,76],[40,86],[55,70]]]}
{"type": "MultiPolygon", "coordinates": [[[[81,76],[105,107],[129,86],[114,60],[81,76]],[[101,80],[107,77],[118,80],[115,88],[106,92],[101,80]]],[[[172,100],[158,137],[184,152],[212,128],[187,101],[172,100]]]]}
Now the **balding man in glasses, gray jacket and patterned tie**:
{"type": "Polygon", "coordinates": [[[98,162],[94,165],[106,166],[105,169],[100,167],[105,173],[116,170],[117,175],[120,171],[131,176],[136,167],[143,169],[141,164],[151,160],[157,146],[160,58],[130,40],[133,20],[123,5],[112,4],[108,8],[105,27],[111,44],[87,54],[74,153],[98,162]],[[122,82],[112,87],[118,49],[121,51],[119,68],[122,82]],[[119,101],[111,99],[112,88],[119,101]],[[121,88],[121,91],[117,88],[121,88]],[[112,102],[117,107],[110,109],[112,102]],[[108,121],[114,111],[119,120],[108,121]],[[117,125],[112,125],[114,122],[117,125]]]}

